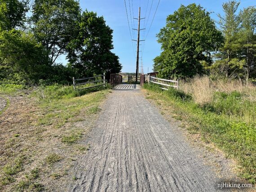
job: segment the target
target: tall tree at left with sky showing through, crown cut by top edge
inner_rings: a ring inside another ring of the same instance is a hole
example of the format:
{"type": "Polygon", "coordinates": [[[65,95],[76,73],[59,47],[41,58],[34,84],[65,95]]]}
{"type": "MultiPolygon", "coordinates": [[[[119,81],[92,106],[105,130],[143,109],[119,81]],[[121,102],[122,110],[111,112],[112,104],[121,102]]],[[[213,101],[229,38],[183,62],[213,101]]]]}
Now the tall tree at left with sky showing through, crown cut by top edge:
{"type": "Polygon", "coordinates": [[[35,0],[31,17],[32,31],[49,51],[51,64],[66,53],[67,44],[74,39],[79,22],[80,7],[76,0],[35,0]]]}

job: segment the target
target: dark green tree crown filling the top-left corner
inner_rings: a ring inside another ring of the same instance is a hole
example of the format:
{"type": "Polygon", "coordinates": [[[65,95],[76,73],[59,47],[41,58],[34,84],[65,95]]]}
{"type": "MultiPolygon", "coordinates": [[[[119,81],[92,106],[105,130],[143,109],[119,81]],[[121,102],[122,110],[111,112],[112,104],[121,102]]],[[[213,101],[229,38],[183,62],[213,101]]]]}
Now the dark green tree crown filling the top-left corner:
{"type": "Polygon", "coordinates": [[[28,0],[0,0],[0,31],[23,26],[28,0]]]}

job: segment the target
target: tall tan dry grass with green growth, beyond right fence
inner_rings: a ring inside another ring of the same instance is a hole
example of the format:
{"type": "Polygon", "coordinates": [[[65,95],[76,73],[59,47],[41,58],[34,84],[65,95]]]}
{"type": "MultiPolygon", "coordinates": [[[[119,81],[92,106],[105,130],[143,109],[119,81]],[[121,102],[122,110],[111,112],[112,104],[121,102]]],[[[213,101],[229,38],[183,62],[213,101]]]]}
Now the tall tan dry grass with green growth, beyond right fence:
{"type": "Polygon", "coordinates": [[[195,103],[211,106],[218,114],[246,123],[256,123],[256,87],[239,80],[215,80],[195,77],[181,82],[181,90],[195,103]]]}

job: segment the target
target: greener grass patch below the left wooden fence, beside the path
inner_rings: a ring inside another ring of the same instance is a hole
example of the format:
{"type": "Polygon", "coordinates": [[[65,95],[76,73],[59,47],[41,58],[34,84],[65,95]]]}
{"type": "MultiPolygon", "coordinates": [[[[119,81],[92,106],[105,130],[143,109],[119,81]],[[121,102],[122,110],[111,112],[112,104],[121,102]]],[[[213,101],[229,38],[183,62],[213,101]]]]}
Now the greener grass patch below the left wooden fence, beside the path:
{"type": "MultiPolygon", "coordinates": [[[[72,87],[48,86],[44,90],[34,92],[40,99],[40,108],[44,113],[39,117],[38,125],[60,128],[66,122],[81,121],[83,118],[78,118],[81,110],[85,110],[85,114],[95,114],[101,109],[98,107],[100,102],[106,97],[107,89],[93,92],[83,93],[76,92],[72,87]]],[[[102,88],[99,88],[102,89],[102,88]]],[[[86,91],[88,92],[88,90],[86,91]]]]}

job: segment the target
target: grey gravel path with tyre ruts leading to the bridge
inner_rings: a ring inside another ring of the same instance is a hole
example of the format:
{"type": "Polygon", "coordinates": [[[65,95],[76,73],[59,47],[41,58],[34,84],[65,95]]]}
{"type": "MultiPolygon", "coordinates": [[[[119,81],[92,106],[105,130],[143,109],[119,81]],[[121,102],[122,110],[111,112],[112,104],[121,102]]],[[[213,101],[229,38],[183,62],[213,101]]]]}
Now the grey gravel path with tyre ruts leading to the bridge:
{"type": "Polygon", "coordinates": [[[216,191],[214,171],[139,89],[113,91],[87,142],[68,191],[216,191]]]}

